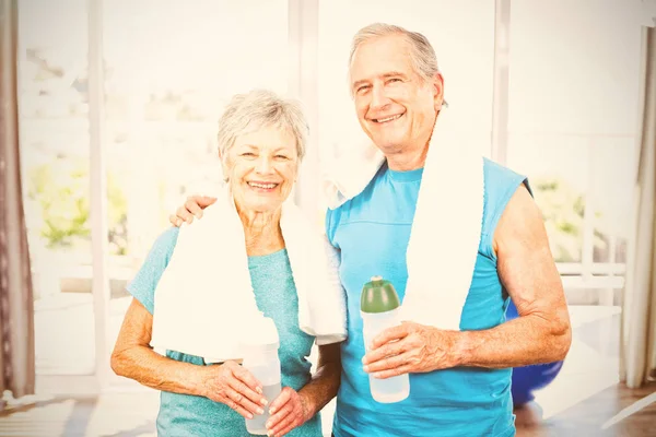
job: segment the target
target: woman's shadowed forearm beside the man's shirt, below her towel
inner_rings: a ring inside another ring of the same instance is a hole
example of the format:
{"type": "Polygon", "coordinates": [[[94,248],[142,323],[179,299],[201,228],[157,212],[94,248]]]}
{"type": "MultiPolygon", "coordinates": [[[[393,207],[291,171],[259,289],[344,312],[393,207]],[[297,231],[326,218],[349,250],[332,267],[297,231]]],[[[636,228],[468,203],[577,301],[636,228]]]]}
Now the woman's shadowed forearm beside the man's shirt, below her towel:
{"type": "Polygon", "coordinates": [[[319,363],[312,380],[300,391],[307,405],[307,418],[317,414],[337,395],[341,378],[340,345],[319,346],[319,363]]]}

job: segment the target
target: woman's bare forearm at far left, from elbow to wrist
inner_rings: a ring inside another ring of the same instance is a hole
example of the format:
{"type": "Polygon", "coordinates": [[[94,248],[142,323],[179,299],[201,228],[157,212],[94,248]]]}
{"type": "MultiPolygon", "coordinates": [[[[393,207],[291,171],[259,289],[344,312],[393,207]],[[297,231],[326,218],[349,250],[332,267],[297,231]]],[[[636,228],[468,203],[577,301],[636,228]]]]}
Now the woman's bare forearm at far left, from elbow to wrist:
{"type": "Polygon", "coordinates": [[[115,352],[112,368],[117,375],[153,389],[202,395],[202,367],[167,358],[148,346],[115,352]]]}

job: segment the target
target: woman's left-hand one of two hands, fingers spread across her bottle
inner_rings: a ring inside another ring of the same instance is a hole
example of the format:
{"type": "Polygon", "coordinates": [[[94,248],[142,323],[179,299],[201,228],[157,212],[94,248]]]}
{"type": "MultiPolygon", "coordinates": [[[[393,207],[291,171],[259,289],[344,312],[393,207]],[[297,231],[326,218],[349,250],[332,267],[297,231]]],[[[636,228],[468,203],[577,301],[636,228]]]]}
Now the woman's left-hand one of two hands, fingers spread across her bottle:
{"type": "Polygon", "coordinates": [[[246,418],[265,412],[262,406],[267,400],[262,397],[262,386],[250,371],[233,361],[201,369],[203,397],[226,404],[246,418]]]}

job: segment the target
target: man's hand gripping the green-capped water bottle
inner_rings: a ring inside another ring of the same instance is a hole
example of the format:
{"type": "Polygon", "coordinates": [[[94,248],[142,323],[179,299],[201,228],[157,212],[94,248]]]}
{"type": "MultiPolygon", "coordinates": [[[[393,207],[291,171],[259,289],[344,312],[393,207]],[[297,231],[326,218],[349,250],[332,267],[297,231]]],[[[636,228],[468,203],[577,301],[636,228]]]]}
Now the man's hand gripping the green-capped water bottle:
{"type": "Polygon", "coordinates": [[[455,367],[457,334],[414,322],[386,329],[372,341],[371,351],[362,358],[364,371],[386,379],[455,367]]]}

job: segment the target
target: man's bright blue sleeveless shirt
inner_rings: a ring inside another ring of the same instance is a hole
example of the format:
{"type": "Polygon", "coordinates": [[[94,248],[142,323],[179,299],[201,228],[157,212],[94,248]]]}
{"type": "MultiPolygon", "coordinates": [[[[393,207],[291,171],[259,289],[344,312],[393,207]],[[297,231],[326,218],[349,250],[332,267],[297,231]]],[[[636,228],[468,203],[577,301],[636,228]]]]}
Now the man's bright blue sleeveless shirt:
{"type": "MultiPolygon", "coordinates": [[[[362,193],[326,215],[328,238],[341,252],[340,277],[348,295],[349,338],[341,349],[335,436],[513,436],[511,368],[411,374],[408,399],[383,404],[371,395],[361,362],[365,351],[360,294],[363,284],[380,274],[391,281],[402,302],[406,249],[422,173],[394,172],[384,165],[362,193]]],[[[508,297],[496,272],[492,238],[511,197],[523,182],[528,187],[525,177],[487,158],[484,180],[482,234],[461,330],[484,330],[505,321],[508,297]]],[[[449,205],[444,205],[444,213],[449,213],[449,205]]]]}

